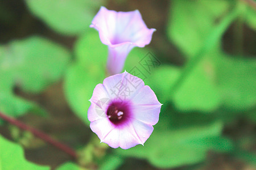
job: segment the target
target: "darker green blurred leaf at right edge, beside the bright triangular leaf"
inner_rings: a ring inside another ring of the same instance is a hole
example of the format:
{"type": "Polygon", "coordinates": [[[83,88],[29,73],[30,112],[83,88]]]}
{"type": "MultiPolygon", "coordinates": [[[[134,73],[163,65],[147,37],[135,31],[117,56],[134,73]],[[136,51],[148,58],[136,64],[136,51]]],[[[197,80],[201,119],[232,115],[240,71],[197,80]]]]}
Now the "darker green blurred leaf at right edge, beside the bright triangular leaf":
{"type": "Polygon", "coordinates": [[[256,60],[223,55],[216,67],[224,106],[235,111],[255,107],[256,60]]]}

